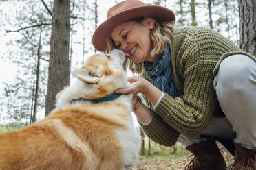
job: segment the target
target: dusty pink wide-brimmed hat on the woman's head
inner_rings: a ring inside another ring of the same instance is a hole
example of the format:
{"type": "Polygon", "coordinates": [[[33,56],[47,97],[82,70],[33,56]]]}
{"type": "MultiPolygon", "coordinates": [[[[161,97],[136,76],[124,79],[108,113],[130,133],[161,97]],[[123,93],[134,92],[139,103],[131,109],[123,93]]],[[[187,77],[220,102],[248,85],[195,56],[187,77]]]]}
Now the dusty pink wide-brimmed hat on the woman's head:
{"type": "Polygon", "coordinates": [[[175,14],[168,8],[159,5],[146,5],[137,0],[122,1],[109,9],[107,20],[96,28],[92,36],[94,48],[98,51],[105,51],[107,49],[107,36],[114,27],[142,16],[150,16],[160,22],[175,21],[175,14]]]}

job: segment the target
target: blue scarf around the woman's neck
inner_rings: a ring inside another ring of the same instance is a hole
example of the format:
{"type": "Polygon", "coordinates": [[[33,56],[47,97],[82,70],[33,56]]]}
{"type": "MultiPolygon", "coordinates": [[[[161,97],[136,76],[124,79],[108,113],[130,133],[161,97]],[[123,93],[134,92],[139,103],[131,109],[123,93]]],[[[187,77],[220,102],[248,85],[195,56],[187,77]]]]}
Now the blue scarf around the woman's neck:
{"type": "Polygon", "coordinates": [[[161,91],[168,93],[171,97],[178,96],[178,88],[171,79],[171,50],[167,45],[163,53],[156,56],[155,62],[143,62],[144,68],[152,84],[161,91]]]}

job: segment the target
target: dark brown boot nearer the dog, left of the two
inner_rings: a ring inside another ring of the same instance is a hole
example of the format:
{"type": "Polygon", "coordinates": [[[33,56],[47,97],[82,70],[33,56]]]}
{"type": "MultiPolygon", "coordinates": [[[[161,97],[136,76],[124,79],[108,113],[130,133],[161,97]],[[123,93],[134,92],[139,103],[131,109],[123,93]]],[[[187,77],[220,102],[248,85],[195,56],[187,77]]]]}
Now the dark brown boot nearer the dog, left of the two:
{"type": "Polygon", "coordinates": [[[194,158],[186,165],[185,170],[226,170],[226,162],[215,139],[194,143],[186,149],[193,153],[194,158]]]}

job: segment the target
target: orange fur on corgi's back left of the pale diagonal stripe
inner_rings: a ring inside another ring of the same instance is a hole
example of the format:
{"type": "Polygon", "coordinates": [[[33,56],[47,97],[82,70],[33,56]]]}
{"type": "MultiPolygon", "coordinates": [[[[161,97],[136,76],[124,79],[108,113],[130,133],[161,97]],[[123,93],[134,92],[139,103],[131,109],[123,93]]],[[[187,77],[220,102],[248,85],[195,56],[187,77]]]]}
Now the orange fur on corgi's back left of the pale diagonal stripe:
{"type": "Polygon", "coordinates": [[[0,134],[0,169],[73,169],[70,165],[79,165],[81,158],[72,158],[72,150],[48,123],[0,134]]]}

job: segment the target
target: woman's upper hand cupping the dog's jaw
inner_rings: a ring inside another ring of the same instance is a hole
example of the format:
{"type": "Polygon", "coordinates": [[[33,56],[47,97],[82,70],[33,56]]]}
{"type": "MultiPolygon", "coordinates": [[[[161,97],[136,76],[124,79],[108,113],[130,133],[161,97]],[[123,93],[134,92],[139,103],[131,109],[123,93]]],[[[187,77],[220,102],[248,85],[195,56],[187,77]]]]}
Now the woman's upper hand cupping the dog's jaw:
{"type": "Polygon", "coordinates": [[[115,93],[133,93],[135,95],[137,95],[138,93],[142,93],[143,95],[145,95],[149,90],[150,82],[145,80],[143,77],[128,77],[128,82],[131,83],[130,86],[125,88],[118,88],[116,89],[115,93]]]}

